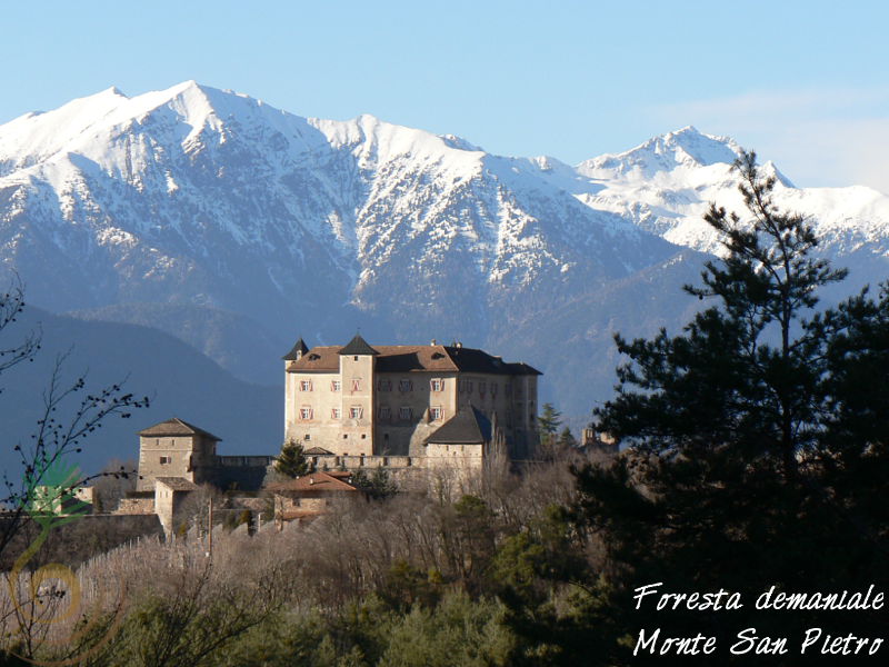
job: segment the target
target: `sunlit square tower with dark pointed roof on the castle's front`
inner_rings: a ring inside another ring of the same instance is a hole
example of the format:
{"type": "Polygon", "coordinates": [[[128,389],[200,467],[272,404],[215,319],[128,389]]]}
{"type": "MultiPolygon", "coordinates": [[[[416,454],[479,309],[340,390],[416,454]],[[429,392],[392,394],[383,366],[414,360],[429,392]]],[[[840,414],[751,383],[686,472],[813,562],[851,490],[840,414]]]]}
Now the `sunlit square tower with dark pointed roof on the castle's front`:
{"type": "Polygon", "coordinates": [[[339,351],[341,450],[350,456],[373,454],[373,374],[378,355],[359,334],[339,351]]]}

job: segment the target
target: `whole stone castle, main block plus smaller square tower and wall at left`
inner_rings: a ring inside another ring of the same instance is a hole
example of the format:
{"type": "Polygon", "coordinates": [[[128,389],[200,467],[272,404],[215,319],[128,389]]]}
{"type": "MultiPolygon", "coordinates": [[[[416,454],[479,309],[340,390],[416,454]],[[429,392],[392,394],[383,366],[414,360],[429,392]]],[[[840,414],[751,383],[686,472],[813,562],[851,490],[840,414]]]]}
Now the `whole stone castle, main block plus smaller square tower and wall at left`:
{"type": "MultiPolygon", "coordinates": [[[[533,451],[541,374],[526,364],[460,344],[374,348],[360,335],[311,349],[300,338],[283,361],[284,440],[301,444],[316,469],[469,472],[492,447],[513,460],[533,451]]],[[[220,456],[217,436],[176,417],[139,437],[141,492],[201,484],[256,490],[274,460],[220,456]]]]}

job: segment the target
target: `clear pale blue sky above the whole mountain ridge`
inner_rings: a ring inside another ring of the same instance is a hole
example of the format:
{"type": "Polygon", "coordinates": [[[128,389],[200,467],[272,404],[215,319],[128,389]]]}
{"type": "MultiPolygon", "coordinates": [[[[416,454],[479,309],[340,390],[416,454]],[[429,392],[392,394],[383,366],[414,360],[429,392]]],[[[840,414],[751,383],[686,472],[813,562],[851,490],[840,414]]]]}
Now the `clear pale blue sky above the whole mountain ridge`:
{"type": "Polygon", "coordinates": [[[569,163],[693,125],[889,193],[889,3],[8,0],[0,123],[194,79],[569,163]]]}

